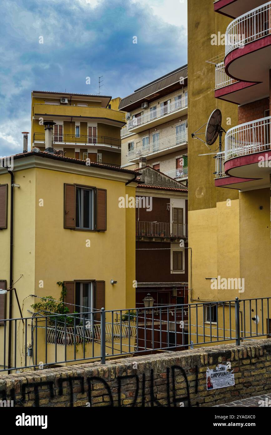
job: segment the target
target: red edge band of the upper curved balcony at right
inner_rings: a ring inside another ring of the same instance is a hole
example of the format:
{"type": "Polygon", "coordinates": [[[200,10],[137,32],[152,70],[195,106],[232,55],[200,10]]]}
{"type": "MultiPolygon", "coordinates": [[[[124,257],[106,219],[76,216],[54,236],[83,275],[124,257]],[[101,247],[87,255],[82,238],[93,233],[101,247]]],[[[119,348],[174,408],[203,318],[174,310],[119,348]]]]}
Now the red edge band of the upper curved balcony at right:
{"type": "MultiPolygon", "coordinates": [[[[232,50],[227,56],[225,57],[225,72],[226,74],[235,80],[240,80],[245,83],[252,83],[247,80],[242,80],[242,77],[234,77],[228,72],[228,68],[231,65],[231,63],[236,60],[240,59],[241,57],[246,56],[247,54],[254,53],[255,51],[261,50],[262,48],[269,47],[271,45],[271,34],[266,35],[256,41],[252,41],[249,43],[246,43],[244,48],[236,47],[234,50],[232,50]]],[[[261,82],[254,82],[254,84],[258,84],[261,82]]]]}

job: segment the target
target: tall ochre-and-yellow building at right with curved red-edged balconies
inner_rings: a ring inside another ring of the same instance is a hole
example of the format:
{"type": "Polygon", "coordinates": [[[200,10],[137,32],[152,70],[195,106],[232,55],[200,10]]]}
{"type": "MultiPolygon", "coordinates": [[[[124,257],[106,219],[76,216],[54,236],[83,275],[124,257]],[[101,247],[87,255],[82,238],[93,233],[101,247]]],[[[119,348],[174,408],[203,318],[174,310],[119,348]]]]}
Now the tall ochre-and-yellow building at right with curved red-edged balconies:
{"type": "MultiPolygon", "coordinates": [[[[259,0],[188,2],[189,287],[203,306],[199,333],[210,328],[211,341],[221,335],[218,319],[235,329],[234,302],[215,301],[270,296],[270,10],[259,0]],[[218,153],[218,140],[208,149],[191,137],[215,109],[226,131],[218,153]],[[242,288],[210,285],[221,278],[242,288]]],[[[267,334],[269,300],[248,302],[240,304],[241,338],[267,334]]]]}

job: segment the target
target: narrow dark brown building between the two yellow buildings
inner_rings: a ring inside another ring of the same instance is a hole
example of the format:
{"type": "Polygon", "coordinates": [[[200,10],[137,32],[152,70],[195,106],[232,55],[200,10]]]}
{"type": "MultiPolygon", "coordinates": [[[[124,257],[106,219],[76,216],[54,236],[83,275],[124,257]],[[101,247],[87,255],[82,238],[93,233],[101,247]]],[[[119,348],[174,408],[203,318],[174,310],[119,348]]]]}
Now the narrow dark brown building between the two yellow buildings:
{"type": "Polygon", "coordinates": [[[150,166],[139,171],[136,307],[143,308],[146,301],[152,301],[156,326],[153,333],[151,328],[145,330],[144,322],[150,321],[150,316],[139,314],[137,348],[173,350],[188,343],[187,309],[176,311],[173,307],[188,303],[188,189],[150,166]],[[185,325],[180,329],[182,321],[185,325]]]}

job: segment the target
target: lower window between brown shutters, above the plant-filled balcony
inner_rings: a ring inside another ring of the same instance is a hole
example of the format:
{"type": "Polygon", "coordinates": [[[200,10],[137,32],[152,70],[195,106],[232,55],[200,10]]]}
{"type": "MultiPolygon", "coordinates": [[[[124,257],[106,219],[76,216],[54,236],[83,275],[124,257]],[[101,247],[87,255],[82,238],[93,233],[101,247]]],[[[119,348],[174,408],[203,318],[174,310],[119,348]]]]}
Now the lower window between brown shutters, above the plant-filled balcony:
{"type": "Polygon", "coordinates": [[[77,313],[89,313],[86,316],[80,314],[76,316],[76,323],[83,322],[86,324],[87,320],[93,321],[93,314],[89,311],[93,311],[94,306],[94,291],[93,282],[76,282],[75,283],[75,310],[77,313]]]}

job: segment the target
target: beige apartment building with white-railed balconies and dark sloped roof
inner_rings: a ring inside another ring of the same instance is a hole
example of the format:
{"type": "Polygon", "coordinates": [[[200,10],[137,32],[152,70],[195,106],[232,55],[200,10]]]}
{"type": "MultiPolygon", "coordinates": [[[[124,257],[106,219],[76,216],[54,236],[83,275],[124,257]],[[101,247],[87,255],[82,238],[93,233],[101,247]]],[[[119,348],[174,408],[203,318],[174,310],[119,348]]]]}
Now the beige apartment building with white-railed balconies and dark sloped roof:
{"type": "Polygon", "coordinates": [[[145,84],[123,98],[122,167],[137,168],[139,159],[187,184],[187,65],[145,84]]]}

